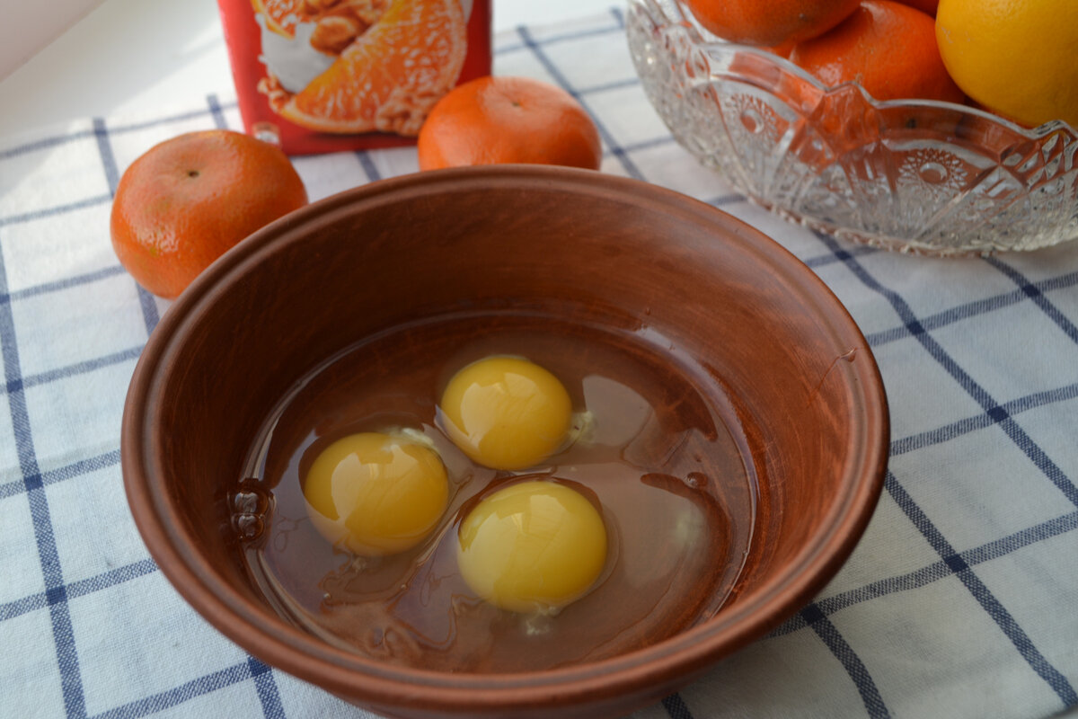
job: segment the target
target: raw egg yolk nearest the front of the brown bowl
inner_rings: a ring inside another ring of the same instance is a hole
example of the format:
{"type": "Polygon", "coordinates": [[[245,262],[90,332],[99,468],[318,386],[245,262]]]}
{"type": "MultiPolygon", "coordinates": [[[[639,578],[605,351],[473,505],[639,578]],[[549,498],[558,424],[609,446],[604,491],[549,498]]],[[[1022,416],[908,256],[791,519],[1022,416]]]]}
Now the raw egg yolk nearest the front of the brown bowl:
{"type": "Polygon", "coordinates": [[[550,612],[580,598],[606,563],[598,511],[556,482],[522,482],[484,498],[458,541],[457,565],[471,591],[516,612],[550,612]]]}

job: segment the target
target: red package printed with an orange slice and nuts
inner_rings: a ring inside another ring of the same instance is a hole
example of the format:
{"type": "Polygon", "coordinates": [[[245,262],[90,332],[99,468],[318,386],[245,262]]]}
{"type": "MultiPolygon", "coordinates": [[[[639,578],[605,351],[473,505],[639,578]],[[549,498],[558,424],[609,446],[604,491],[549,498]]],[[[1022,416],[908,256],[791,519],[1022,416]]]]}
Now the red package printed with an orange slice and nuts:
{"type": "Polygon", "coordinates": [[[289,154],[412,144],[490,73],[490,0],[218,0],[246,130],[289,154]]]}

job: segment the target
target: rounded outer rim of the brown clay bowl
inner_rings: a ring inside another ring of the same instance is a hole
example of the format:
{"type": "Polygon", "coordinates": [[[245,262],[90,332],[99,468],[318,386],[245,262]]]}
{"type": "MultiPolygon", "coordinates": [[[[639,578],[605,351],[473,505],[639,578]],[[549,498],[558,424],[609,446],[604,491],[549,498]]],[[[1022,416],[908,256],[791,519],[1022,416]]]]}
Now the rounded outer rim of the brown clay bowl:
{"type": "Polygon", "coordinates": [[[593,170],[538,165],[454,168],[378,180],[312,203],[255,232],[196,278],[165,313],[136,365],[121,431],[124,487],[136,526],[165,577],[218,631],[267,664],[336,694],[362,697],[375,706],[454,711],[567,706],[603,696],[640,695],[647,687],[688,682],[718,659],[761,638],[807,604],[849,556],[875,510],[888,450],[887,401],[868,342],[833,292],[792,253],[733,216],[673,190],[593,170]],[[275,241],[294,241],[288,236],[295,229],[331,222],[356,205],[492,183],[617,197],[724,225],[731,241],[765,259],[814,306],[826,310],[829,330],[867,352],[866,370],[852,390],[863,402],[863,419],[854,426],[859,442],[843,468],[842,501],[829,513],[826,529],[801,549],[787,570],[754,592],[754,600],[742,600],[716,619],[627,654],[558,669],[456,675],[386,666],[288,624],[215,576],[167,501],[164,467],[154,454],[152,429],[162,412],[162,402],[155,400],[162,392],[163,367],[184,334],[212,312],[225,280],[253,269],[275,241]]]}

